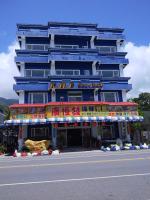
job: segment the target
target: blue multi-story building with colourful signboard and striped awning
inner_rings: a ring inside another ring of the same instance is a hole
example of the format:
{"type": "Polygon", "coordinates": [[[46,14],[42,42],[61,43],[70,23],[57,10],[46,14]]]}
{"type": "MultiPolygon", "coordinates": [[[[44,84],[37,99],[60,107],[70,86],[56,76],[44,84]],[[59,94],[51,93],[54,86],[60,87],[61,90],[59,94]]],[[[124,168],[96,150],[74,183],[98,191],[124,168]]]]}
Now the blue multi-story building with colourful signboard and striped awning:
{"type": "Polygon", "coordinates": [[[137,105],[126,102],[132,86],[121,48],[121,28],[48,22],[18,24],[15,62],[20,76],[6,123],[22,127],[20,138],[51,139],[53,146],[90,146],[126,140],[137,105]]]}

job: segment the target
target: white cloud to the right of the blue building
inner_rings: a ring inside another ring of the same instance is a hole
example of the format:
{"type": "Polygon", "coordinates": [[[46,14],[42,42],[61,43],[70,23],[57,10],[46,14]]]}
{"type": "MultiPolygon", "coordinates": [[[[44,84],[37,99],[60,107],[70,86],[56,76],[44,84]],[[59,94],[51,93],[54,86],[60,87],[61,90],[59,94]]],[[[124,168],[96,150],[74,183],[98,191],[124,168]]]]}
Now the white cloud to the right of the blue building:
{"type": "Polygon", "coordinates": [[[150,92],[150,45],[136,46],[129,42],[125,46],[128,52],[129,65],[125,68],[125,76],[131,77],[133,89],[130,97],[137,97],[141,92],[150,92]]]}

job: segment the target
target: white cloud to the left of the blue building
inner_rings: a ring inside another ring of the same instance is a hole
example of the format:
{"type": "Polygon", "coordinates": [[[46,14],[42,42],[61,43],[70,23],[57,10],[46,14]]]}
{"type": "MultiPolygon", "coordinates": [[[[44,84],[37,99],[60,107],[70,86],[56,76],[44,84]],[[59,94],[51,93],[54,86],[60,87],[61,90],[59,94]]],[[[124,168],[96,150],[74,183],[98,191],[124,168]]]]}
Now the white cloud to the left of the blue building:
{"type": "Polygon", "coordinates": [[[15,49],[18,48],[16,42],[8,47],[7,52],[0,52],[0,97],[17,98],[13,91],[14,76],[18,76],[16,64],[14,62],[15,49]]]}

